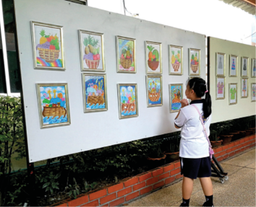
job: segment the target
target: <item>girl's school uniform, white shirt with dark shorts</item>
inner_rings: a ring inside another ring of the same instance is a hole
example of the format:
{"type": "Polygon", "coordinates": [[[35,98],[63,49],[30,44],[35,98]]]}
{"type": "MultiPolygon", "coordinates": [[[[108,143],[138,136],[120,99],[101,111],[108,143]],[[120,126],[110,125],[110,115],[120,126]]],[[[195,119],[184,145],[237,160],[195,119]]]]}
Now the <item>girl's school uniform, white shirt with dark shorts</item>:
{"type": "Polygon", "coordinates": [[[210,177],[210,154],[209,144],[203,132],[203,126],[200,121],[194,104],[202,115],[208,136],[210,135],[210,121],[212,116],[203,117],[203,100],[193,100],[190,105],[181,108],[179,117],[174,120],[174,124],[182,128],[181,141],[179,145],[179,157],[181,157],[182,175],[191,179],[197,177],[210,177]]]}

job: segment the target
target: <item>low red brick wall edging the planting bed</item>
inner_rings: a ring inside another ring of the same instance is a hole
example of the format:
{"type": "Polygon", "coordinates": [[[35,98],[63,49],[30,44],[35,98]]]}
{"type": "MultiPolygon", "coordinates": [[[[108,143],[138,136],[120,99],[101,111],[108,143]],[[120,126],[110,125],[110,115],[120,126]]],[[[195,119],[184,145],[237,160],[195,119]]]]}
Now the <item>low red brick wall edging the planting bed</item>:
{"type": "MultiPolygon", "coordinates": [[[[218,161],[233,157],[249,148],[256,146],[256,134],[241,138],[229,144],[218,146],[214,149],[218,161]]],[[[171,185],[181,178],[180,162],[171,162],[148,172],[143,172],[135,177],[127,177],[119,183],[108,185],[105,188],[90,191],[79,198],[61,201],[51,207],[114,207],[122,203],[141,198],[159,188],[171,185]]],[[[50,207],[50,206],[49,206],[50,207]]]]}

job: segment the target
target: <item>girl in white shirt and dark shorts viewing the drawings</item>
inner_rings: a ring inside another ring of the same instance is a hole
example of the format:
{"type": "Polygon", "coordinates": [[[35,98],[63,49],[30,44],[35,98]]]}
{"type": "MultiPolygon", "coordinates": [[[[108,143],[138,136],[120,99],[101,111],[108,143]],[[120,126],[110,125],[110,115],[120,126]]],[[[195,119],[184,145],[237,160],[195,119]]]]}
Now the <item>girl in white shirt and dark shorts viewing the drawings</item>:
{"type": "Polygon", "coordinates": [[[210,154],[209,144],[203,132],[200,115],[195,105],[202,115],[208,135],[210,134],[211,120],[211,99],[206,89],[205,80],[200,78],[190,79],[185,92],[187,98],[191,100],[188,105],[187,100],[182,100],[182,108],[175,118],[176,128],[182,128],[179,146],[179,156],[181,159],[181,174],[184,175],[182,182],[182,204],[180,207],[189,207],[189,199],[192,194],[193,182],[200,178],[202,190],[205,194],[206,202],[203,207],[213,206],[213,184],[210,180],[210,154]],[[202,97],[205,95],[205,99],[202,97]]]}

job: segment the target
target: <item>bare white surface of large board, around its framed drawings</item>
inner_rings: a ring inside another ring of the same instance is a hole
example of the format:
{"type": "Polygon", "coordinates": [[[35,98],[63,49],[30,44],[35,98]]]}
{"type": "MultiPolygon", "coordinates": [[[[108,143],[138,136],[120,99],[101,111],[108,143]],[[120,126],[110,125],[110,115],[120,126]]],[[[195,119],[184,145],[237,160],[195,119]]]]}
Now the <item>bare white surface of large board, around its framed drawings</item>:
{"type": "MultiPolygon", "coordinates": [[[[18,44],[30,162],[176,131],[169,113],[168,84],[188,79],[188,50],[201,50],[205,77],[205,35],[165,27],[63,0],[15,0],[18,44]],[[63,26],[66,71],[33,69],[30,21],[63,26]],[[102,32],[106,60],[108,111],[83,113],[78,30],[102,32]],[[116,73],[116,35],[136,39],[137,74],[116,73]],[[163,106],[147,107],[145,40],[162,43],[163,106]],[[168,75],[168,45],[182,45],[184,75],[168,75]],[[67,82],[71,125],[40,129],[36,83],[67,82]],[[139,116],[119,120],[116,84],[137,83],[139,116]]],[[[186,87],[184,87],[185,89],[186,87]]]]}

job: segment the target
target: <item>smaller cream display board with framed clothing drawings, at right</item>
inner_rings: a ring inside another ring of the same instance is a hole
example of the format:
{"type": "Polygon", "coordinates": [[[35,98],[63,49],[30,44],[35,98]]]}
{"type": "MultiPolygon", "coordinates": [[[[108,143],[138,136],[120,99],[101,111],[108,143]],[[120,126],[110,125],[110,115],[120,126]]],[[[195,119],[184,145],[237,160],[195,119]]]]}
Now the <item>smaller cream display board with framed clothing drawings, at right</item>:
{"type": "Polygon", "coordinates": [[[212,123],[256,114],[256,48],[208,38],[212,123]]]}

